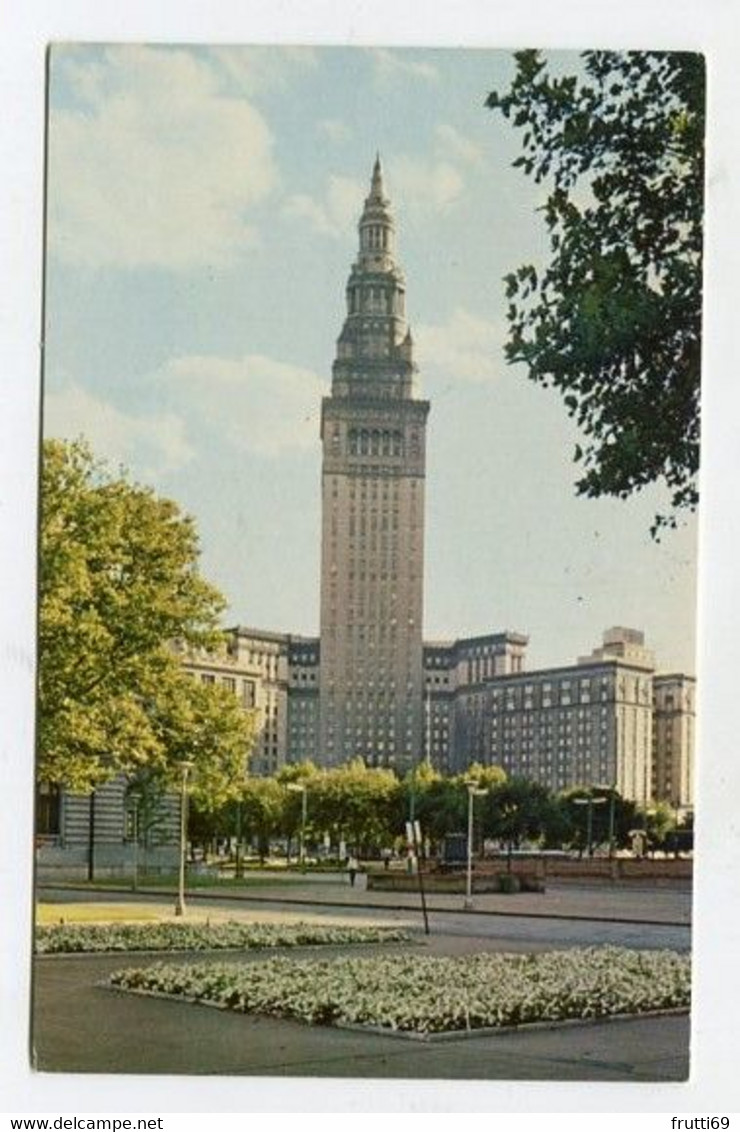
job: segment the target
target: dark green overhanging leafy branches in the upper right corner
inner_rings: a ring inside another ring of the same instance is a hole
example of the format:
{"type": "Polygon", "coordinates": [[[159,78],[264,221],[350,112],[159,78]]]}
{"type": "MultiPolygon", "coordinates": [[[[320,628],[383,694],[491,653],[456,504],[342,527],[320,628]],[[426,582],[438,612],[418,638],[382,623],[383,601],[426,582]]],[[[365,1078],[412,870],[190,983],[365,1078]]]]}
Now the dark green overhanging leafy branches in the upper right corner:
{"type": "Polygon", "coordinates": [[[562,395],[585,436],[580,495],[697,504],[705,69],[698,54],[588,51],[583,78],[516,55],[487,105],[520,130],[551,257],[506,278],[507,359],[562,395]]]}

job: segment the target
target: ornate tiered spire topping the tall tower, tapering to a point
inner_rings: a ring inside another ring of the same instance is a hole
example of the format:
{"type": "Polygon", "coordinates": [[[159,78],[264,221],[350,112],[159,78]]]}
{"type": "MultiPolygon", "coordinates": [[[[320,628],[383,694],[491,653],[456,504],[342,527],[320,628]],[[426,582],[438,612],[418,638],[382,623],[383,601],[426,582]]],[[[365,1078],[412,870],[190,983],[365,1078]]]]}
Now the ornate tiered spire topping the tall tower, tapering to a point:
{"type": "Polygon", "coordinates": [[[372,169],[359,233],[332,394],[352,400],[406,400],[415,393],[416,367],[406,325],[406,282],[395,258],[396,226],[385,194],[380,156],[372,169]]]}

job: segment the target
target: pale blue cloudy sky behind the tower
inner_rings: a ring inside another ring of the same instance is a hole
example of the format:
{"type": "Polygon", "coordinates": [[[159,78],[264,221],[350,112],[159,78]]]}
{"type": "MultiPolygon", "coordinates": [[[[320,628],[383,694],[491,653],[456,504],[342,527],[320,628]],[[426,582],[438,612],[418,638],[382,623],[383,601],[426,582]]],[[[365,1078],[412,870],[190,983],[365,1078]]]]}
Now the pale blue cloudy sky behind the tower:
{"type": "Polygon", "coordinates": [[[320,396],[379,151],[432,406],[425,636],[518,629],[535,668],[623,624],[692,671],[694,523],[657,544],[659,491],[576,498],[560,398],[504,361],[501,277],[545,250],[484,108],[511,74],[481,50],[54,48],[45,431],[196,516],[229,621],[316,633],[320,396]]]}

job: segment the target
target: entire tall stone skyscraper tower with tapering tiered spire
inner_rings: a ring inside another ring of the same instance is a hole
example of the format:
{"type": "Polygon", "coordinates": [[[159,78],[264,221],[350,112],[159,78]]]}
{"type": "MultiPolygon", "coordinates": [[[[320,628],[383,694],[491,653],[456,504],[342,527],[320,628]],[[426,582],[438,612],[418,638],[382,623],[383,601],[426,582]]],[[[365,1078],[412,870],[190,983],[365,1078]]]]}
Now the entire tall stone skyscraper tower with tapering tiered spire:
{"type": "Polygon", "coordinates": [[[321,406],[319,757],[403,771],[422,749],[424,447],[380,160],[321,406]]]}

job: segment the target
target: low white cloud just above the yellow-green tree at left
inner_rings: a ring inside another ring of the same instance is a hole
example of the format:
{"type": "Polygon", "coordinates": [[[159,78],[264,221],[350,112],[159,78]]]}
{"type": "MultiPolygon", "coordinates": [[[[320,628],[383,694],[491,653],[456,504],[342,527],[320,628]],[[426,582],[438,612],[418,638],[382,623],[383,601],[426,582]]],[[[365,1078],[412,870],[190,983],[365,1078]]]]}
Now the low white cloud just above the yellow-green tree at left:
{"type": "Polygon", "coordinates": [[[174,413],[135,417],[74,384],[46,394],[44,431],[67,440],[83,436],[102,460],[155,472],[173,471],[193,456],[174,413]]]}

